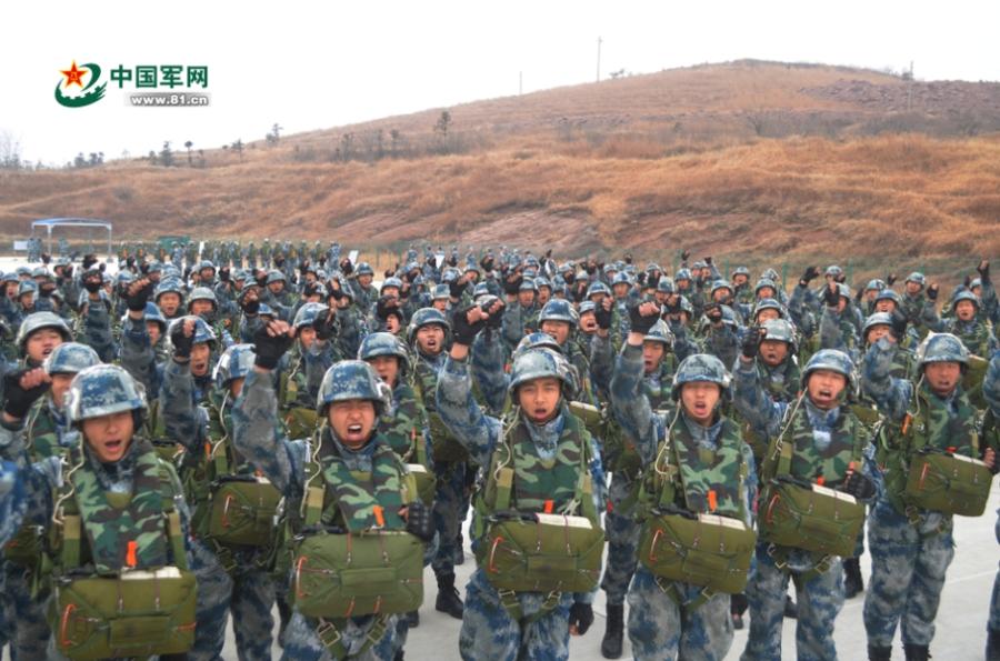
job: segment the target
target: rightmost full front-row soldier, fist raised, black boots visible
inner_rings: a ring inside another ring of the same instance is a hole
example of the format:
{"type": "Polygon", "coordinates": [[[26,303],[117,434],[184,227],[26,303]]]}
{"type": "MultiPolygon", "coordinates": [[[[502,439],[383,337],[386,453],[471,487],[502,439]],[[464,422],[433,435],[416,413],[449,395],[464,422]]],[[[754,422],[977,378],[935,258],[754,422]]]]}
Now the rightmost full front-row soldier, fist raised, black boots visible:
{"type": "MultiPolygon", "coordinates": [[[[907,659],[918,661],[930,655],[944,574],[954,558],[956,509],[947,498],[931,495],[928,500],[919,487],[922,480],[911,484],[909,473],[921,457],[926,462],[948,461],[951,455],[981,459],[987,472],[966,489],[982,491],[984,505],[996,449],[980,444],[976,409],[961,387],[969,362],[961,341],[948,333],[929,334],[917,350],[917,383],[890,374],[897,350],[882,338],[868,350],[862,365],[864,392],[886,417],[879,442],[884,488],[868,528],[872,572],[864,599],[864,629],[869,659],[886,660],[901,622],[907,659]]],[[[937,463],[922,465],[931,467],[917,469],[924,474],[939,470],[933,468],[937,463]]]]}

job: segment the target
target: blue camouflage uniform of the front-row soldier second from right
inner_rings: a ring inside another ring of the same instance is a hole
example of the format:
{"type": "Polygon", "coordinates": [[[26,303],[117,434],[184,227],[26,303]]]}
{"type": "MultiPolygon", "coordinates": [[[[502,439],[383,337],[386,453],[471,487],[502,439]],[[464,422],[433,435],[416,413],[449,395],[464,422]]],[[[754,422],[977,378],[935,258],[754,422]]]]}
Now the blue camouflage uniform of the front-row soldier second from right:
{"type": "MultiPolygon", "coordinates": [[[[744,364],[742,359],[737,359],[733,367],[733,405],[758,435],[774,439],[791,423],[788,418],[796,413],[790,411],[797,403],[772,399],[760,381],[756,364],[744,364]]],[[[847,407],[821,411],[812,405],[807,395],[802,395],[799,405],[804,410],[804,422],[812,431],[814,449],[821,453],[849,415],[847,407]]],[[[867,441],[862,473],[872,481],[877,480],[873,448],[867,441]]],[[[757,545],[756,567],[747,585],[750,632],[741,659],[753,661],[781,658],[781,627],[790,578],[796,583],[799,611],[796,625],[798,658],[836,659],[833,623],[843,605],[840,558],[834,557],[824,571],[817,573],[816,570],[821,568],[817,567],[813,554],[801,549],[786,549],[786,564],[779,568],[772,557],[772,544],[766,542],[757,545]]]]}

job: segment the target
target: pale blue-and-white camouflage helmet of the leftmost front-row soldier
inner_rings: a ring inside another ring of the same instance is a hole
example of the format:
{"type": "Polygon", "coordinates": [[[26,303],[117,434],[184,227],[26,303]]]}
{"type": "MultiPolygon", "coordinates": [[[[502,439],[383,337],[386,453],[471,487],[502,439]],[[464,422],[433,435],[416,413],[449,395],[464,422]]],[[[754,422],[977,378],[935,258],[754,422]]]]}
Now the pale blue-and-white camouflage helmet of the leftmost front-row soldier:
{"type": "Polygon", "coordinates": [[[119,365],[101,363],[78,372],[66,393],[67,417],[74,424],[136,410],[146,410],[146,392],[119,365]]]}

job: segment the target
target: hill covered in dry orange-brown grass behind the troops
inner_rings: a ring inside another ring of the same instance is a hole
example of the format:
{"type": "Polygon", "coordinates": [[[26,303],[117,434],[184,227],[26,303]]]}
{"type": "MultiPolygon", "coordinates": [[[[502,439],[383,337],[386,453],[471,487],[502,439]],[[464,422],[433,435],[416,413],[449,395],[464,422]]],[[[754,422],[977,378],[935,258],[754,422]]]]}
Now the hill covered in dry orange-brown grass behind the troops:
{"type": "Polygon", "coordinates": [[[48,216],[191,233],[566,253],[681,246],[878,261],[1000,253],[1000,84],[740,61],[478,101],[204,154],[0,174],[48,216]]]}

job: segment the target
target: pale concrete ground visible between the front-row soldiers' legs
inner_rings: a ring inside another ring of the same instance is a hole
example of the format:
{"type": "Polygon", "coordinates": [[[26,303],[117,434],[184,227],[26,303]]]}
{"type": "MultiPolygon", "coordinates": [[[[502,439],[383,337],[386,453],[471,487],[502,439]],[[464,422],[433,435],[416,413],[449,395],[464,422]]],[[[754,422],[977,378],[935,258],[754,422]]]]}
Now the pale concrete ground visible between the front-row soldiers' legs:
{"type": "MultiPolygon", "coordinates": [[[[931,644],[931,653],[942,661],[978,661],[983,659],[986,645],[986,621],[988,617],[990,595],[993,589],[993,578],[997,574],[998,553],[997,540],[993,535],[996,523],[996,510],[1000,507],[1000,487],[994,483],[987,513],[978,519],[956,518],[956,554],[954,561],[948,570],[948,581],[941,598],[941,608],[938,612],[938,630],[931,644]]],[[[468,535],[466,537],[468,540],[468,535]]],[[[459,584],[464,584],[476,567],[476,560],[468,551],[466,563],[457,568],[459,584]]],[[[871,571],[869,555],[861,559],[861,568],[866,584],[871,571]]],[[[424,604],[420,609],[420,627],[410,631],[407,643],[406,657],[422,661],[451,661],[459,659],[458,635],[461,622],[453,620],[434,610],[437,583],[433,572],[428,569],[424,573],[424,604]]],[[[847,601],[843,610],[837,619],[837,628],[833,638],[837,641],[839,658],[846,661],[863,660],[867,658],[867,641],[864,625],[861,620],[861,609],[864,602],[863,594],[847,601]]],[[[604,595],[599,592],[594,600],[594,623],[587,635],[572,639],[570,643],[570,658],[580,661],[601,659],[600,644],[604,632],[604,595]]],[[[628,618],[628,609],[626,610],[628,618]]],[[[277,612],[276,612],[277,620],[277,612]]],[[[749,620],[749,619],[748,619],[749,620]]],[[[782,631],[782,658],[794,659],[794,620],[786,620],[782,631]]],[[[626,635],[626,650],[623,659],[630,659],[626,635]]],[[[726,657],[727,661],[739,659],[743,647],[747,644],[747,630],[737,631],[732,649],[726,657]]],[[[279,659],[281,650],[276,644],[274,659],[279,659]]],[[[236,647],[231,630],[227,632],[223,658],[236,660],[236,647]]],[[[893,658],[902,659],[901,643],[897,634],[893,658]]]]}

